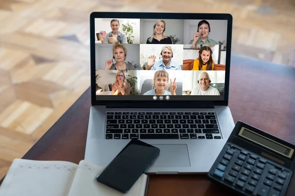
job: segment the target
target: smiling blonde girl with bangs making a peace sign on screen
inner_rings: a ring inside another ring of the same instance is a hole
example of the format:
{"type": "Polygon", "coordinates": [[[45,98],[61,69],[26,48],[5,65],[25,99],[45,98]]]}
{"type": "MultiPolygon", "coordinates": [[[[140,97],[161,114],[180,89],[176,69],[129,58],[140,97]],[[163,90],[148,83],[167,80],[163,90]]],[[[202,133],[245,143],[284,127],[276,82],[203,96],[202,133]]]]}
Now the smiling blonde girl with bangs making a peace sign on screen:
{"type": "Polygon", "coordinates": [[[154,74],[154,84],[152,90],[146,92],[144,95],[176,95],[175,91],[177,89],[177,85],[175,84],[176,78],[174,78],[174,82],[170,79],[170,92],[166,91],[166,87],[169,82],[169,73],[160,70],[156,71],[154,74]]]}

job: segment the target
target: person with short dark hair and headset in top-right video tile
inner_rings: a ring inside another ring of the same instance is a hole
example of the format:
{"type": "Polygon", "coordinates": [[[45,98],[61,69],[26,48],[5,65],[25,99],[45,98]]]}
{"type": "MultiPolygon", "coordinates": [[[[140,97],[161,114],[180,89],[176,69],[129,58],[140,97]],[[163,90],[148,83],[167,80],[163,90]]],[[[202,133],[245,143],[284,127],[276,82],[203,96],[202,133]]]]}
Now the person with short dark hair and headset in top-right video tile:
{"type": "Polygon", "coordinates": [[[217,42],[215,40],[212,40],[209,38],[209,32],[210,32],[210,24],[206,21],[200,21],[198,24],[198,30],[193,35],[193,39],[189,42],[189,44],[193,45],[217,45],[217,42]]]}

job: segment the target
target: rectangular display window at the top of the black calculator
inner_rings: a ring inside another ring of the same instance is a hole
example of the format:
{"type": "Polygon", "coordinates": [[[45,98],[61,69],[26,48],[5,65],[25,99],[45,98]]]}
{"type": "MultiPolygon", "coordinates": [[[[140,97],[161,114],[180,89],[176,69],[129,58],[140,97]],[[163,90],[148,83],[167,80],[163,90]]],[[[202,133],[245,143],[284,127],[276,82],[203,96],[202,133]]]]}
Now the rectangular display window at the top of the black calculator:
{"type": "Polygon", "coordinates": [[[286,157],[291,158],[292,154],[294,152],[294,149],[290,147],[286,147],[278,142],[275,142],[271,139],[266,138],[265,136],[262,136],[258,133],[255,133],[249,129],[246,129],[245,127],[242,127],[241,130],[238,133],[239,136],[242,136],[252,142],[255,142],[261,146],[267,147],[277,153],[280,153],[286,157]]]}

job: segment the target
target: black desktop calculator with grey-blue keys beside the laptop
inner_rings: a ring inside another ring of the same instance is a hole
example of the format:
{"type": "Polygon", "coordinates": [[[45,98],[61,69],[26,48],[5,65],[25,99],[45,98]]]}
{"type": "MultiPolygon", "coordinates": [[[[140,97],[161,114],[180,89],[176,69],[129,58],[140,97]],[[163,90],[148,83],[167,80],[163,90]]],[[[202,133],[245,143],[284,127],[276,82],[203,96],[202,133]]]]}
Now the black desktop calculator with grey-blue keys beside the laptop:
{"type": "Polygon", "coordinates": [[[246,196],[285,195],[295,146],[238,121],[207,176],[246,196]]]}

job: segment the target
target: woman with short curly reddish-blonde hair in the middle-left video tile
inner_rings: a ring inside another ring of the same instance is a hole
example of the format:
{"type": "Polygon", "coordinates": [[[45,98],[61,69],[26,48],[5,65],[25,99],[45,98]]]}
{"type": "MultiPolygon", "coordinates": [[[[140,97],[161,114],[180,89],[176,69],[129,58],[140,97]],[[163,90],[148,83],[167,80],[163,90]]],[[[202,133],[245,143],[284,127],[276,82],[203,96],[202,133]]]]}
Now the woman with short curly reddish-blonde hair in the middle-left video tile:
{"type": "Polygon", "coordinates": [[[105,63],[105,70],[135,70],[135,67],[125,62],[127,50],[123,44],[115,44],[113,46],[113,59],[109,59],[105,63]]]}

